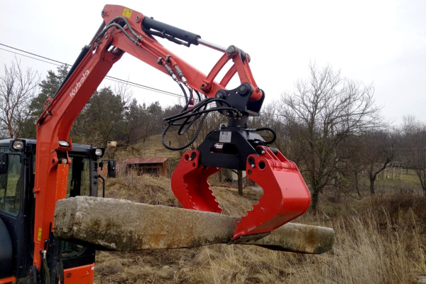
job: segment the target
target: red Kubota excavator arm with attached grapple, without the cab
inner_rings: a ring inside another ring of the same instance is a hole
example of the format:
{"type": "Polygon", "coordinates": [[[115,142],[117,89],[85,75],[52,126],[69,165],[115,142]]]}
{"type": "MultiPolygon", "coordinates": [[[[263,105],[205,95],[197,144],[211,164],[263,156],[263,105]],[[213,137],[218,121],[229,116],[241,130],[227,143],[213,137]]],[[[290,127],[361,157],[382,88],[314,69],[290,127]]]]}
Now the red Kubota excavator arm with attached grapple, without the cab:
{"type": "Polygon", "coordinates": [[[174,125],[190,126],[189,119],[202,117],[203,120],[209,111],[221,111],[229,117],[227,126],[212,131],[197,150],[186,152],[173,173],[173,192],[183,207],[221,212],[208,178],[221,168],[232,168],[246,170],[248,177],[261,185],[264,192],[259,203],[237,224],[234,242],[261,238],[306,212],[310,193],[296,165],[269,147],[256,129],[248,128],[249,116],[259,114],[265,95],[253,79],[247,53],[233,45],[223,48],[209,43],[200,35],[123,6],[105,6],[102,18],[102,26],[83,48],[55,97],[45,102],[45,111],[37,121],[33,265],[38,270],[43,266],[46,248],[53,236],[55,204],[66,197],[71,126],[124,53],[170,75],[180,87],[190,91],[185,109],[168,119],[165,131],[174,125]],[[223,55],[205,75],[164,48],[154,37],[188,47],[205,45],[223,55]],[[230,60],[233,65],[217,82],[218,73],[230,60]],[[239,76],[241,85],[226,89],[234,75],[239,76]],[[197,101],[193,93],[202,93],[206,98],[198,96],[197,101]],[[208,109],[209,103],[215,103],[216,107],[208,109]],[[185,122],[178,124],[179,119],[185,122]]]}

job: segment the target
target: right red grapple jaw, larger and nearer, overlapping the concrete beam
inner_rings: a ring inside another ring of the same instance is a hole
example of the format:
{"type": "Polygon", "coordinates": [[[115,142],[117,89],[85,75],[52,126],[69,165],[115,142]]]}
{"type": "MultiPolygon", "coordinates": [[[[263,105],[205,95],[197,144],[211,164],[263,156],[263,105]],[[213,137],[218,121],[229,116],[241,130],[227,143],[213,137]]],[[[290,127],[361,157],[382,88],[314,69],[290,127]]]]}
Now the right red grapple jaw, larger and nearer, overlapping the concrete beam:
{"type": "Polygon", "coordinates": [[[268,148],[263,151],[261,156],[249,155],[246,166],[247,176],[263,188],[263,196],[236,224],[233,241],[273,231],[309,208],[310,192],[295,163],[279,151],[277,155],[268,148]]]}

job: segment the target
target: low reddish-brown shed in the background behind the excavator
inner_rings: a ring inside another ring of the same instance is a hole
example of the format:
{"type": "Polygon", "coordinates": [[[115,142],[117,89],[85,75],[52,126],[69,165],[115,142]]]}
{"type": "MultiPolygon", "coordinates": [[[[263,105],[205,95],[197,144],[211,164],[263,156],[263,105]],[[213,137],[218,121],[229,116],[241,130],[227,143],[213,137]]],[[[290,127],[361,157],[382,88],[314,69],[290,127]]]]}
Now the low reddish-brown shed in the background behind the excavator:
{"type": "Polygon", "coordinates": [[[117,165],[117,170],[120,173],[129,173],[129,171],[136,171],[138,175],[151,174],[151,175],[166,175],[167,158],[126,158],[121,160],[117,165]]]}

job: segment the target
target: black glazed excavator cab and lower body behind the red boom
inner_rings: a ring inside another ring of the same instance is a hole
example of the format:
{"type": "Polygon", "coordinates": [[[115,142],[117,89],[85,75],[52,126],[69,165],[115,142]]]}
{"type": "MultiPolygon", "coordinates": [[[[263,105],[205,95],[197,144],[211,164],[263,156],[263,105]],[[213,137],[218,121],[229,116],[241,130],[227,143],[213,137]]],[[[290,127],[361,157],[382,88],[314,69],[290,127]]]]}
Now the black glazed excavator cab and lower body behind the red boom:
{"type": "MultiPolygon", "coordinates": [[[[35,147],[35,140],[30,139],[0,141],[0,283],[33,278],[35,273],[31,271],[34,269],[35,147]]],[[[97,160],[102,158],[104,149],[74,144],[69,153],[72,163],[67,197],[97,196],[97,160]]],[[[45,246],[57,248],[58,253],[47,260],[51,262],[48,267],[58,263],[58,277],[66,278],[67,283],[87,277],[81,283],[89,283],[93,277],[94,249],[55,239],[49,239],[45,246]]]]}

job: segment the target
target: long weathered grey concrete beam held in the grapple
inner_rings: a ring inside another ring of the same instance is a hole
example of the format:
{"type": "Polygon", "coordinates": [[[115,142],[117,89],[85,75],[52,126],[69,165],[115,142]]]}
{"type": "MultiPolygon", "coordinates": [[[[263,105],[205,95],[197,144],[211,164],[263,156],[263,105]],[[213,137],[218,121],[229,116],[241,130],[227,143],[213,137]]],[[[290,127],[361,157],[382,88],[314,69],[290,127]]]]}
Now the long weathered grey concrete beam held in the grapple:
{"type": "MultiPolygon", "coordinates": [[[[212,212],[129,200],[73,197],[57,202],[54,233],[60,239],[101,250],[178,249],[227,244],[239,220],[212,212]]],[[[324,253],[332,249],[333,242],[333,229],[289,223],[263,239],[240,239],[235,244],[324,253]]]]}

